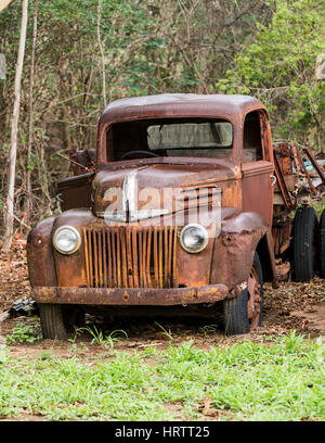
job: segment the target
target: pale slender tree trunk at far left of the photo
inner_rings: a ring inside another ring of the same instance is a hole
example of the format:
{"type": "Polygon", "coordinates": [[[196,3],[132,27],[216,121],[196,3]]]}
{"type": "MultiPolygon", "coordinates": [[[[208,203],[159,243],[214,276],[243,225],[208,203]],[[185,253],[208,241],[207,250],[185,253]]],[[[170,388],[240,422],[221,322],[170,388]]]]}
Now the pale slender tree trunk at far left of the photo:
{"type": "Polygon", "coordinates": [[[18,58],[15,75],[15,92],[14,92],[14,109],[11,125],[11,150],[10,150],[10,166],[8,176],[8,195],[5,208],[5,233],[3,241],[3,250],[9,251],[13,237],[14,224],[14,188],[15,188],[15,170],[17,156],[17,130],[20,119],[21,89],[22,89],[22,73],[26,43],[26,28],[28,17],[28,0],[22,0],[22,25],[21,38],[18,48],[18,58]]]}

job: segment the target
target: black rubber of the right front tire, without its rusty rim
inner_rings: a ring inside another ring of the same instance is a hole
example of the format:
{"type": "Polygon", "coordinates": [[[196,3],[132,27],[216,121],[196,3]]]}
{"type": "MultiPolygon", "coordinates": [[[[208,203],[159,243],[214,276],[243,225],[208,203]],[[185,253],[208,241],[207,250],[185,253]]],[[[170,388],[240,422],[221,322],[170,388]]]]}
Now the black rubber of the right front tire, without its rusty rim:
{"type": "MultiPolygon", "coordinates": [[[[258,253],[255,253],[252,266],[256,268],[260,284],[260,314],[258,326],[262,324],[262,306],[263,306],[263,273],[258,253]]],[[[226,299],[223,303],[224,307],[224,329],[226,336],[236,336],[248,333],[250,330],[250,321],[248,318],[248,289],[246,288],[240,294],[234,299],[226,299]]]]}

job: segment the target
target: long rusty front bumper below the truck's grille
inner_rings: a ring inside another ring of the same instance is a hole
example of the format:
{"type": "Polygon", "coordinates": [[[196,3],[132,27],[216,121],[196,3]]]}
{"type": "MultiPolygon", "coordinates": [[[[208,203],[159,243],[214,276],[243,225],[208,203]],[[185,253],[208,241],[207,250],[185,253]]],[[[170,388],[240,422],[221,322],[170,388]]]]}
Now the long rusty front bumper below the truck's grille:
{"type": "Polygon", "coordinates": [[[37,303],[123,306],[214,303],[227,295],[229,289],[224,284],[172,289],[36,287],[31,291],[37,303]]]}

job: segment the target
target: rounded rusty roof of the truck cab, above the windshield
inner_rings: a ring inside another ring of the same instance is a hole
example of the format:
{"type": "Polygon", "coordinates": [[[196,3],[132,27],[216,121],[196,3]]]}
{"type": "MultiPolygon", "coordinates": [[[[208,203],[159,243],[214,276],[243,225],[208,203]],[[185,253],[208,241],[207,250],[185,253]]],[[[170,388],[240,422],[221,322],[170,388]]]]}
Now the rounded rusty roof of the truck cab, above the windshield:
{"type": "Polygon", "coordinates": [[[100,124],[132,118],[230,117],[264,109],[250,96],[162,93],[132,97],[112,102],[100,116],[100,124]]]}

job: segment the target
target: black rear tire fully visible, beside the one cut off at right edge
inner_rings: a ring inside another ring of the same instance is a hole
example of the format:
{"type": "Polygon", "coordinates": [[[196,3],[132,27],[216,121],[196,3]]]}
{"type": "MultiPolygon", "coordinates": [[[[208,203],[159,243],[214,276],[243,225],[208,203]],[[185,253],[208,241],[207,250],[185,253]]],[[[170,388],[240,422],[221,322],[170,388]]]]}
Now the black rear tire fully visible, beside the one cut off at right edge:
{"type": "Polygon", "coordinates": [[[292,230],[294,280],[310,281],[314,278],[318,243],[318,220],[315,210],[299,207],[292,230]]]}

